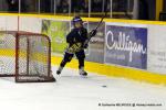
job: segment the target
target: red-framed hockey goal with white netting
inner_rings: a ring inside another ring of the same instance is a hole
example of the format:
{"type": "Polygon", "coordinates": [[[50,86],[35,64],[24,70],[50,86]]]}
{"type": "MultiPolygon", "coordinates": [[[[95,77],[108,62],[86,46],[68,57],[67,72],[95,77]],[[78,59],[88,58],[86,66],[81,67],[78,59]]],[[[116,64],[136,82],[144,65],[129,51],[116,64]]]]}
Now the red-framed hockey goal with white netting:
{"type": "Polygon", "coordinates": [[[17,82],[55,81],[49,36],[0,31],[0,77],[14,77],[17,82]]]}

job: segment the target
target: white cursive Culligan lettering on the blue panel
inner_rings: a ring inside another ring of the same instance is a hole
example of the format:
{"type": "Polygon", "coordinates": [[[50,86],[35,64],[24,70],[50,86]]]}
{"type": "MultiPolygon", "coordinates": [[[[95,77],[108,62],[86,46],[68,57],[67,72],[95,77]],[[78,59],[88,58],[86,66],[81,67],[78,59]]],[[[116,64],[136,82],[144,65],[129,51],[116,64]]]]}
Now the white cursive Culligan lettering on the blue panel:
{"type": "Polygon", "coordinates": [[[141,42],[133,42],[129,40],[129,35],[124,32],[118,33],[118,41],[115,41],[115,36],[112,31],[106,33],[106,47],[108,50],[126,51],[129,52],[129,62],[133,61],[133,53],[146,54],[146,47],[144,48],[141,42]],[[110,40],[108,40],[110,38],[110,40]]]}

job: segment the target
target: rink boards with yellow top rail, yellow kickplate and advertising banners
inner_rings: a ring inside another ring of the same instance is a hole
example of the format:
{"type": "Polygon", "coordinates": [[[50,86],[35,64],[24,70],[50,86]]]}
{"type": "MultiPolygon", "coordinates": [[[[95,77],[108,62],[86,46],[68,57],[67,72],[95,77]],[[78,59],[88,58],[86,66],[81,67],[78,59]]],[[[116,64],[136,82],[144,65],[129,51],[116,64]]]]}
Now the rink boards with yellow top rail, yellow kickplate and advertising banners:
{"type": "MultiPolygon", "coordinates": [[[[0,14],[0,30],[48,34],[52,40],[52,64],[59,65],[72,29],[70,16],[0,14]],[[54,54],[55,53],[55,54],[54,54]],[[59,55],[56,55],[59,54],[59,55]]],[[[91,31],[100,18],[83,18],[91,31]]],[[[152,84],[166,84],[166,22],[105,19],[86,51],[85,68],[106,76],[152,84]]],[[[74,59],[68,65],[77,68],[74,59]]]]}

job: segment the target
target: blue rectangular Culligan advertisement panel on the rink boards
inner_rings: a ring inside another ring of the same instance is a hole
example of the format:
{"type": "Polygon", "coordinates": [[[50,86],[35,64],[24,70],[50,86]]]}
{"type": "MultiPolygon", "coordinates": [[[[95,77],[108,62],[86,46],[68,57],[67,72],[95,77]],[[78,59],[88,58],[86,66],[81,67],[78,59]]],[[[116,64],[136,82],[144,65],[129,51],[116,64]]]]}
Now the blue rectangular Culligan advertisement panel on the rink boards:
{"type": "Polygon", "coordinates": [[[105,32],[105,63],[147,68],[146,26],[107,23],[105,32]]]}

